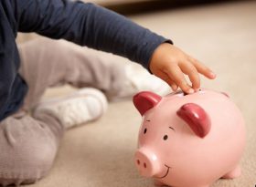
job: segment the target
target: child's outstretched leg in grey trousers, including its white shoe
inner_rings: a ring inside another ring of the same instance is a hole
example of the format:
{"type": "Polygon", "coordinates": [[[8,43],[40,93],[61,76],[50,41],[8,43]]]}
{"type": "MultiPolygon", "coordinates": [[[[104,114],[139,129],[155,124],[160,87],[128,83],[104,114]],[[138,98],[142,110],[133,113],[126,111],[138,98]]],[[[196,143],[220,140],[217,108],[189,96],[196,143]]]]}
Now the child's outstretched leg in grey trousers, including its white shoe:
{"type": "MultiPolygon", "coordinates": [[[[19,51],[21,75],[30,87],[28,98],[32,103],[42,95],[45,87],[65,83],[78,88],[98,88],[109,98],[132,96],[138,89],[155,90],[157,87],[159,90],[164,85],[149,74],[144,76],[145,70],[140,77],[143,68],[138,68],[140,71],[126,68],[132,63],[125,58],[79,47],[64,40],[41,38],[21,45],[19,51]],[[38,78],[41,84],[37,84],[38,78]],[[31,90],[37,90],[37,93],[31,90]]],[[[27,101],[26,104],[31,105],[27,101]]]]}

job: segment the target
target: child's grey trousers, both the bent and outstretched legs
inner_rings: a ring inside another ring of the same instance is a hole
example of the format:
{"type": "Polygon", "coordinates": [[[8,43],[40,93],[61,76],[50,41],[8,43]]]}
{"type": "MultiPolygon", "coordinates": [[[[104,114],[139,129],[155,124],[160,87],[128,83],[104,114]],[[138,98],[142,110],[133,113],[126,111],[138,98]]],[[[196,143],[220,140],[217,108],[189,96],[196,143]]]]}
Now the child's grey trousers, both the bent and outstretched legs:
{"type": "Polygon", "coordinates": [[[47,174],[65,131],[47,113],[29,115],[48,87],[69,83],[118,95],[123,58],[47,38],[20,45],[20,75],[29,87],[24,106],[0,123],[0,184],[36,182],[47,174]],[[100,55],[99,55],[100,54],[100,55]]]}

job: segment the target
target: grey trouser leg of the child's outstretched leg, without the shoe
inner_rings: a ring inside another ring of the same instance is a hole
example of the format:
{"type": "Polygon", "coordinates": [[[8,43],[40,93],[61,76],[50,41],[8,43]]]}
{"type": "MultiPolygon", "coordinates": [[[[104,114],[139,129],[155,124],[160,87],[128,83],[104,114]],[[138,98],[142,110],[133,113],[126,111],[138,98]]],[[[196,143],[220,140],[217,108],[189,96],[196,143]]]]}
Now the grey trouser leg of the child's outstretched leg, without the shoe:
{"type": "Polygon", "coordinates": [[[20,74],[29,92],[25,105],[34,107],[45,88],[69,83],[78,88],[92,87],[114,91],[122,82],[123,68],[112,66],[97,52],[64,40],[40,38],[18,47],[20,74]],[[115,78],[118,77],[118,78],[115,78]]]}

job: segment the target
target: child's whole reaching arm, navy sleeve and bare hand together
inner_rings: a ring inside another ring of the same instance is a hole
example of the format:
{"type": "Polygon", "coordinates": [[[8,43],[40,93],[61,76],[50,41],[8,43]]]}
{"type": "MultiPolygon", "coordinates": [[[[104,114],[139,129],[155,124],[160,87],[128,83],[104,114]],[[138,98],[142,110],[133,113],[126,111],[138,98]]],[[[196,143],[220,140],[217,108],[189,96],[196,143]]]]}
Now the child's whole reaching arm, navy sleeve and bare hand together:
{"type": "Polygon", "coordinates": [[[12,0],[21,32],[37,32],[51,38],[65,38],[139,62],[172,88],[188,92],[183,73],[190,75],[193,88],[199,87],[198,62],[172,46],[172,41],[138,26],[131,20],[98,5],[66,0],[12,0]],[[165,43],[165,44],[163,44],[165,43]],[[169,43],[169,44],[167,44],[169,43]],[[154,54],[154,55],[153,55],[154,54]],[[189,63],[188,63],[189,62],[189,63]],[[197,65],[197,66],[196,66],[197,65]],[[183,73],[180,71],[183,71],[183,73]],[[193,73],[190,74],[190,70],[193,73]],[[168,75],[168,78],[165,75],[168,75]]]}

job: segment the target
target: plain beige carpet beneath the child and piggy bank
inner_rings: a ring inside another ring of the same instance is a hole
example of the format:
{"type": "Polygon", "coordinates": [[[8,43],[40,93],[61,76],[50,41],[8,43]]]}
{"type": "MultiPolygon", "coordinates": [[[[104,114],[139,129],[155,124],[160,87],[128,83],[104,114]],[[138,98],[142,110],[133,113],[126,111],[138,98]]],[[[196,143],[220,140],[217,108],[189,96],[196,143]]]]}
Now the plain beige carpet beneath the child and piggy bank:
{"type": "MultiPolygon", "coordinates": [[[[203,87],[229,93],[243,112],[248,135],[242,176],[220,180],[213,186],[254,187],[256,2],[165,10],[131,18],[172,38],[176,46],[218,74],[215,81],[203,78],[203,87]]],[[[52,171],[30,187],[153,187],[152,181],[139,176],[133,166],[140,120],[131,100],[111,103],[100,120],[66,133],[52,171]]]]}

